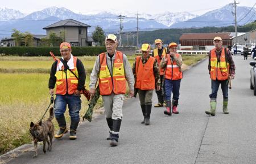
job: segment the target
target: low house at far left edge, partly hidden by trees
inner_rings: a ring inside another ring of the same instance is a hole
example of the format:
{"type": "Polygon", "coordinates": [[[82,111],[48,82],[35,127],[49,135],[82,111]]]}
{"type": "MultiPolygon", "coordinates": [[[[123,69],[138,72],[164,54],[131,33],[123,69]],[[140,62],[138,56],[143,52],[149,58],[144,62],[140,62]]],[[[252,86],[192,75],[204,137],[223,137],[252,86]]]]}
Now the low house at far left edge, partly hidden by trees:
{"type": "MultiPolygon", "coordinates": [[[[36,47],[36,46],[40,46],[41,45],[41,39],[43,37],[46,37],[46,35],[39,35],[39,34],[32,34],[33,36],[33,40],[32,40],[32,46],[36,47]]],[[[24,42],[21,42],[22,45],[24,45],[24,42]]],[[[15,38],[10,37],[10,38],[3,38],[1,40],[1,46],[3,47],[13,47],[16,46],[15,43],[15,38]]]]}

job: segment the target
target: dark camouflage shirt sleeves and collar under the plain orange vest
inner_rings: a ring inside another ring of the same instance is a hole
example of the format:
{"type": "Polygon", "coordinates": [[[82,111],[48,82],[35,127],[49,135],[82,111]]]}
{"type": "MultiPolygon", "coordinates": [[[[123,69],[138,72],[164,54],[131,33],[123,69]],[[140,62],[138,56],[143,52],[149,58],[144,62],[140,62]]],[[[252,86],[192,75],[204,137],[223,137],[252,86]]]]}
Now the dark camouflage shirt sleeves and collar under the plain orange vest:
{"type": "MultiPolygon", "coordinates": [[[[142,59],[142,63],[143,65],[145,63],[147,63],[148,59],[150,58],[150,56],[148,55],[148,57],[146,59],[143,58],[143,55],[141,57],[142,59]]],[[[153,64],[153,71],[154,71],[154,76],[155,76],[155,85],[156,86],[160,86],[161,85],[161,81],[160,81],[160,74],[159,74],[159,68],[158,68],[158,61],[154,61],[154,64],[153,64]]],[[[136,75],[136,58],[135,58],[135,61],[133,63],[133,74],[134,76],[136,75]]]]}

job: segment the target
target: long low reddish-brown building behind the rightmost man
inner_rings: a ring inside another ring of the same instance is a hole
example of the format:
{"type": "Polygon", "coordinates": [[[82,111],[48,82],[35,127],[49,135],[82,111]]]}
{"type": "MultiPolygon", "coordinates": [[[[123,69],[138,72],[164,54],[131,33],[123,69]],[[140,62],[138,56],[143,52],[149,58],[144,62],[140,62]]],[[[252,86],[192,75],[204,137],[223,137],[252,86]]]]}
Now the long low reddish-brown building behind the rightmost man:
{"type": "Polygon", "coordinates": [[[183,33],[180,36],[180,49],[191,50],[210,50],[213,48],[213,38],[219,36],[222,38],[222,45],[232,45],[232,36],[230,32],[220,33],[183,33]]]}

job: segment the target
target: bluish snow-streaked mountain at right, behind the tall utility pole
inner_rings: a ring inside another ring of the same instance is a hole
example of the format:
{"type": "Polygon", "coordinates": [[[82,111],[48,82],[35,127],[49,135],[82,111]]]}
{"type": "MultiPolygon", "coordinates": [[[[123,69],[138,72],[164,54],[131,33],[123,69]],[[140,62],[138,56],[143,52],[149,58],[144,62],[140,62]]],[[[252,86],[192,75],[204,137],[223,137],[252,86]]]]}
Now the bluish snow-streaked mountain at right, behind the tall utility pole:
{"type": "MultiPolygon", "coordinates": [[[[256,19],[256,8],[237,6],[237,24],[244,25],[256,19]],[[250,12],[249,12],[250,11],[250,12]],[[249,13],[248,15],[246,15],[249,13]]],[[[190,28],[190,27],[221,27],[234,25],[233,5],[226,5],[217,10],[209,11],[196,18],[184,22],[175,23],[171,28],[190,28]]]]}

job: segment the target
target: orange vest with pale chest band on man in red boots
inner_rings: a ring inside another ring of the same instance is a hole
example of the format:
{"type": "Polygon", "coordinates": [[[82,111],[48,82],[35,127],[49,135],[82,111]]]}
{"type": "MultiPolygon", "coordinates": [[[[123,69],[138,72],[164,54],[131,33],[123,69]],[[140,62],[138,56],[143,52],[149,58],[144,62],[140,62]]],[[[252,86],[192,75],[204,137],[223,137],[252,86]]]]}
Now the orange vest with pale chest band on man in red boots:
{"type": "MultiPolygon", "coordinates": [[[[179,58],[179,54],[176,54],[176,57],[179,58]]],[[[179,66],[175,60],[171,62],[170,54],[167,54],[168,62],[166,66],[165,78],[169,80],[179,80],[182,79],[182,72],[179,71],[179,66]]]]}

